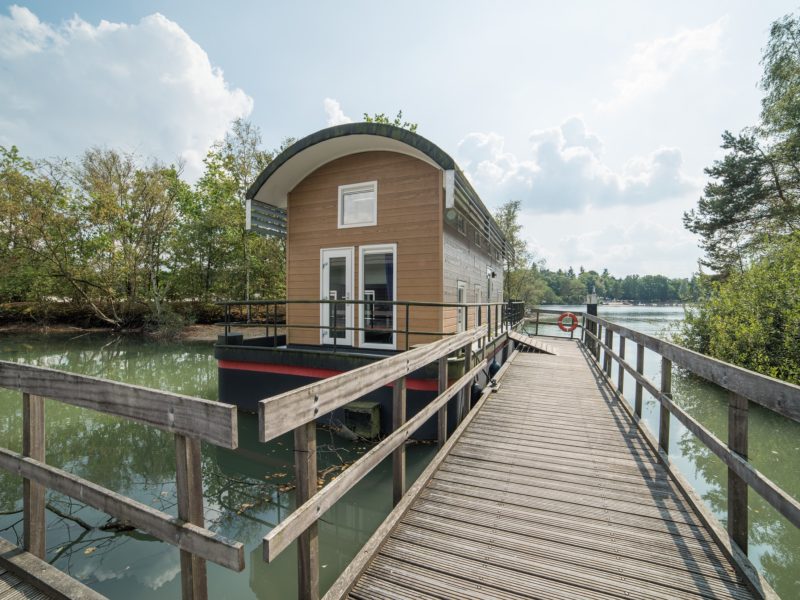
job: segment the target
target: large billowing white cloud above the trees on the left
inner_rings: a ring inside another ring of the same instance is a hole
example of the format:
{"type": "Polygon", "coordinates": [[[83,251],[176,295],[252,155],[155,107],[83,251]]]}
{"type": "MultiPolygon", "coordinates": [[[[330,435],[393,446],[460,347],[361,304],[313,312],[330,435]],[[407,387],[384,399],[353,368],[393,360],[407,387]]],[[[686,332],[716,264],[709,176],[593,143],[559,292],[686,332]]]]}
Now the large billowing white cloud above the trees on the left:
{"type": "Polygon", "coordinates": [[[0,15],[0,144],[32,156],[89,146],[181,159],[196,177],[209,146],[253,100],[161,14],[136,24],[0,15]]]}

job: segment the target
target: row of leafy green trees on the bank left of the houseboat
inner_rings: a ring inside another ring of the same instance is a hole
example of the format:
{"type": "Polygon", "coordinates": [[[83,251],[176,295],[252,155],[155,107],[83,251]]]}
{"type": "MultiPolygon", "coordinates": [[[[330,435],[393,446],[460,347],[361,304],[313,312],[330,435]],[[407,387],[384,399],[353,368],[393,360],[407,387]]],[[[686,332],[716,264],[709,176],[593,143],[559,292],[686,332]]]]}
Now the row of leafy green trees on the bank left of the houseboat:
{"type": "Polygon", "coordinates": [[[283,241],[244,229],[247,186],[275,154],[260,145],[257,128],[235,121],[194,186],[115,150],[31,161],[0,147],[0,302],[169,330],[186,319],[171,306],[244,297],[248,279],[251,297],[283,295],[283,241]]]}

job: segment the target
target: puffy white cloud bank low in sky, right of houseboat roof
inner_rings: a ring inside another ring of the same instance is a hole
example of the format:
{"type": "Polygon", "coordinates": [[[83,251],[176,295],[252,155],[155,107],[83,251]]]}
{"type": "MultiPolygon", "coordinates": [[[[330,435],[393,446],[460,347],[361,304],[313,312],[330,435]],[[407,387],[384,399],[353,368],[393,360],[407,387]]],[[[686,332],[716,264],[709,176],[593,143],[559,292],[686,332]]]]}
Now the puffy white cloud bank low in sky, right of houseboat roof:
{"type": "Polygon", "coordinates": [[[699,184],[683,174],[676,148],[628,161],[621,172],[601,158],[602,141],[578,117],[534,131],[531,154],[506,152],[496,133],[471,133],[458,145],[462,168],[490,203],[520,200],[537,213],[646,205],[685,196],[699,184]]]}

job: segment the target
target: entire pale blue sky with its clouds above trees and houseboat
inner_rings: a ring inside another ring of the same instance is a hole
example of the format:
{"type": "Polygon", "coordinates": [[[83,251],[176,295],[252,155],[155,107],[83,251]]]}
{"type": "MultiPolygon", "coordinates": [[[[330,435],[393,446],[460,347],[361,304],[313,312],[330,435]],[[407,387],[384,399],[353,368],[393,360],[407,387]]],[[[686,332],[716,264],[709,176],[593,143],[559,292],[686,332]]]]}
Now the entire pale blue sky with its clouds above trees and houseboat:
{"type": "Polygon", "coordinates": [[[0,144],[180,158],[405,116],[552,268],[686,276],[720,134],[758,118],[788,2],[27,2],[0,12],[0,144]]]}

